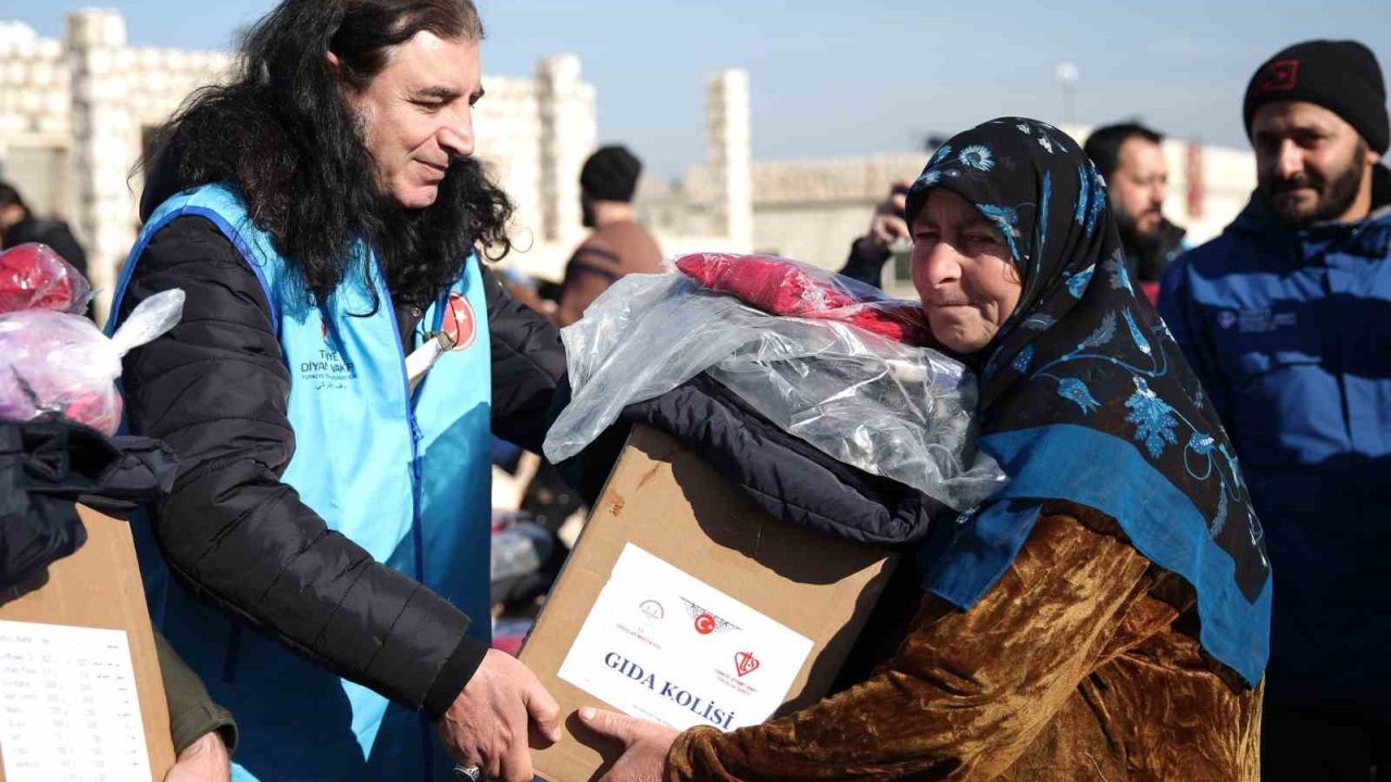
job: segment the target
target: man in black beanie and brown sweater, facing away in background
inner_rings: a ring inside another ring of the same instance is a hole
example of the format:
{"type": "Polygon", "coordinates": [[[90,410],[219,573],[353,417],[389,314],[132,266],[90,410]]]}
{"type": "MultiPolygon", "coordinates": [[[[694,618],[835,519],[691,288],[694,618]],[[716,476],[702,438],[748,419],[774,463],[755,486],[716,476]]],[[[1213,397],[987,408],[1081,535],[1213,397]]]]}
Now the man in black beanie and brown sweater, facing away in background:
{"type": "Polygon", "coordinates": [[[626,146],[605,146],[580,170],[584,227],[594,228],[565,267],[555,320],[569,326],[618,278],[662,270],[662,250],[633,220],[633,192],[643,163],[626,146]]]}

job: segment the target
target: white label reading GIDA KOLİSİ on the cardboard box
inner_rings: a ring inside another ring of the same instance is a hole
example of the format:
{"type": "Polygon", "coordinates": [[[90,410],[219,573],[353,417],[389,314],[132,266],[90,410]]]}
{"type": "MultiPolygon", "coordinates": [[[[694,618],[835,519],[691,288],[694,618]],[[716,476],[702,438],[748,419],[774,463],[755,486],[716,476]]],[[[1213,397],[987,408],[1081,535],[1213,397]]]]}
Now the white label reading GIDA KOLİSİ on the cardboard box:
{"type": "Polygon", "coordinates": [[[559,676],[633,717],[732,731],[782,705],[811,647],[629,543],[559,676]]]}

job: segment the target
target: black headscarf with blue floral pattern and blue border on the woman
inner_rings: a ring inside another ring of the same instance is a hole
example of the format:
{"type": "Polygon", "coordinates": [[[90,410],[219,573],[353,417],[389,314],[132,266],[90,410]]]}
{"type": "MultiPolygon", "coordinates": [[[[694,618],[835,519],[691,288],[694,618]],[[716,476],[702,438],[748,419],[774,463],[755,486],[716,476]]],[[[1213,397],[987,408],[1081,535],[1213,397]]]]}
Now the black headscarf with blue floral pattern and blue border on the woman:
{"type": "Polygon", "coordinates": [[[1260,523],[1198,378],[1125,271],[1102,177],[1061,131],[1003,118],[938,149],[910,216],[932,188],[1004,234],[1024,289],[978,356],[979,445],[1011,480],[925,555],[926,589],[970,608],[1045,501],[1096,508],[1193,586],[1203,647],[1255,686],[1270,646],[1260,523]]]}

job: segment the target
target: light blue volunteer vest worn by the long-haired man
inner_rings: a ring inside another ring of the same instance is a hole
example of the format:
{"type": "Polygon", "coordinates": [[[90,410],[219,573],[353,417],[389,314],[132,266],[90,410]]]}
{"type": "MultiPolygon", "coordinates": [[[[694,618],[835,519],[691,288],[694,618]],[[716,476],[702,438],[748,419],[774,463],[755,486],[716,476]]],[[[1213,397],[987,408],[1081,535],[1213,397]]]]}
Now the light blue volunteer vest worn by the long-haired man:
{"type": "MultiPolygon", "coordinates": [[[[421,317],[417,334],[444,330],[459,344],[412,394],[376,259],[370,285],[380,306],[371,316],[362,317],[373,312],[373,301],[360,276],[339,285],[320,309],[270,237],[252,224],[239,193],[224,185],[185,191],[150,216],[111,312],[120,312],[150,238],[182,216],[211,221],[245,256],[270,301],[291,373],[296,441],[284,483],[330,529],[453,603],[473,618],[469,635],[490,640],[491,356],[479,263],[470,259],[462,278],[421,317]]],[[[370,252],[359,245],[356,260],[370,252]]],[[[242,743],[234,779],[452,778],[452,763],[423,715],[305,661],[199,600],[168,577],[149,525],[132,522],[156,625],[213,699],[236,717],[242,743]]]]}

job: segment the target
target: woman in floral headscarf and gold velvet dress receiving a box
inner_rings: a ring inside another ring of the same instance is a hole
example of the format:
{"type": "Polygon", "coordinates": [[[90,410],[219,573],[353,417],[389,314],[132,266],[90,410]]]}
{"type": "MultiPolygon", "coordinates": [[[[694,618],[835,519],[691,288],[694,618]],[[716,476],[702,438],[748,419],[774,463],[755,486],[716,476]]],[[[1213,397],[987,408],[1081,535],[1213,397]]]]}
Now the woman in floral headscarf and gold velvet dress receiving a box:
{"type": "Polygon", "coordinates": [[[939,525],[868,680],[732,733],[586,710],[625,743],[606,779],[1257,779],[1260,526],[1096,170],[1050,125],[995,120],[938,150],[907,213],[1008,487],[939,525]]]}

